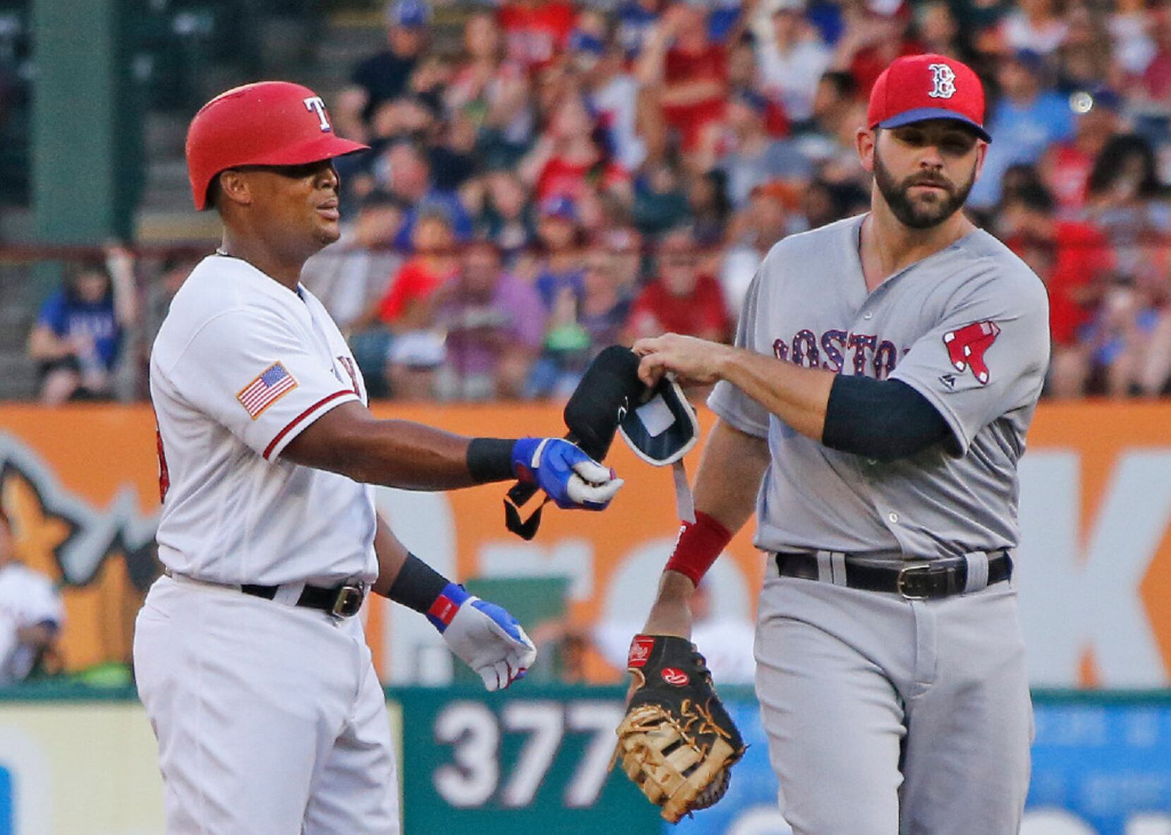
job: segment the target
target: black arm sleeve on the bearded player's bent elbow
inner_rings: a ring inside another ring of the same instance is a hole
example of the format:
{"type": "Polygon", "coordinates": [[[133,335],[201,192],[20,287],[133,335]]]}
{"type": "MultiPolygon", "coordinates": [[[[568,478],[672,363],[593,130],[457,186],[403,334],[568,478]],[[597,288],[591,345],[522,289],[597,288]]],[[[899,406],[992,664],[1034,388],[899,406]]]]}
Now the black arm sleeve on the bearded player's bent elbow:
{"type": "Polygon", "coordinates": [[[950,439],[947,422],[906,383],[844,374],[834,379],[821,433],[829,449],[892,461],[950,439]]]}

